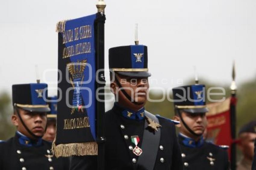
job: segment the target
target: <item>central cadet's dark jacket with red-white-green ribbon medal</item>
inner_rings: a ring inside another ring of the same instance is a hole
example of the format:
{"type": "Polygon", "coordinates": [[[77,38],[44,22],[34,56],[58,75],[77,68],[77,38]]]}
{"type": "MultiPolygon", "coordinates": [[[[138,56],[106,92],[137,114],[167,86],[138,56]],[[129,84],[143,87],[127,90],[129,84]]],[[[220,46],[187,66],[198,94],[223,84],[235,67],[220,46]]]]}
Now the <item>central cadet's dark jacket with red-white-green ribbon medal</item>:
{"type": "MultiPolygon", "coordinates": [[[[133,147],[135,145],[131,142],[130,138],[132,135],[138,135],[140,139],[138,146],[141,148],[144,142],[142,139],[146,120],[144,117],[141,117],[139,112],[133,113],[132,116],[127,116],[127,110],[115,104],[114,107],[105,114],[105,170],[147,170],[142,165],[138,165],[137,161],[139,156],[133,153],[133,147]]],[[[159,145],[155,146],[158,150],[153,169],[182,169],[182,158],[175,126],[167,119],[158,118],[158,120],[159,124],[162,126],[161,137],[159,145]]],[[[71,169],[96,170],[97,157],[73,157],[71,159],[71,169]]]]}

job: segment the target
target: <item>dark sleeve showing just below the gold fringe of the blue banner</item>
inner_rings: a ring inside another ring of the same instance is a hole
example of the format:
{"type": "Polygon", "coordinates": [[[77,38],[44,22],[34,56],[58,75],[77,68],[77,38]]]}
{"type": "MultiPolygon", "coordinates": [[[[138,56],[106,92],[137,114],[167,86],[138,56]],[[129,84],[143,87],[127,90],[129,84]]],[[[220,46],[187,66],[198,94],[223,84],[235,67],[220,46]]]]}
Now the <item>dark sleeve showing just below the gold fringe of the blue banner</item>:
{"type": "Polygon", "coordinates": [[[70,170],[97,170],[97,156],[72,156],[70,170]]]}

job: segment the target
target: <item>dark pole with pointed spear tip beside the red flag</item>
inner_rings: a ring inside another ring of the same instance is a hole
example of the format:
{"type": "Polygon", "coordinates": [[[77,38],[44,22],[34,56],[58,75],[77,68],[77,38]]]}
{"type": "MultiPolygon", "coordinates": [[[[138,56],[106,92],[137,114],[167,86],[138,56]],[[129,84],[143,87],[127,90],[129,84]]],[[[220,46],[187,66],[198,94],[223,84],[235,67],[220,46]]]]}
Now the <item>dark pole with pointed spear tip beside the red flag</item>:
{"type": "Polygon", "coordinates": [[[230,102],[230,120],[231,120],[231,136],[232,136],[232,144],[231,144],[231,170],[236,170],[236,72],[235,72],[235,62],[233,64],[232,71],[232,83],[230,86],[231,90],[231,102],[230,102]]]}

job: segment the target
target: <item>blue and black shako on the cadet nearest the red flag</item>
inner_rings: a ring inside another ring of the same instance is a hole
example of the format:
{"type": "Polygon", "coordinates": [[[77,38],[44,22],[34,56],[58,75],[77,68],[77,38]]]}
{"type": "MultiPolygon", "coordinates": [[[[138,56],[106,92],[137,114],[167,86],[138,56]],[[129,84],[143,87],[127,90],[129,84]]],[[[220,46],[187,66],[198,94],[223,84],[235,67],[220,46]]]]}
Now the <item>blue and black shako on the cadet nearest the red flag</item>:
{"type": "Polygon", "coordinates": [[[189,113],[206,113],[206,90],[204,84],[175,87],[173,91],[174,108],[189,113]]]}

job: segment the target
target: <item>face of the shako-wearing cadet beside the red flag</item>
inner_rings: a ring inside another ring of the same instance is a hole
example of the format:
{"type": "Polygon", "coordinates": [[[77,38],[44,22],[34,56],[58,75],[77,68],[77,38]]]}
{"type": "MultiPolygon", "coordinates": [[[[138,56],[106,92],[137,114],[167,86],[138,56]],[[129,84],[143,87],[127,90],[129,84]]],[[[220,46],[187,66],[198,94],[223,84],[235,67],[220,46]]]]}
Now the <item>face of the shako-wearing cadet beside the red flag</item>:
{"type": "MultiPolygon", "coordinates": [[[[205,113],[187,113],[182,111],[181,116],[187,126],[196,134],[202,135],[207,125],[207,119],[205,113]]],[[[180,121],[180,118],[179,118],[180,121]]],[[[184,126],[182,121],[180,121],[180,132],[190,138],[195,138],[188,129],[184,126]]]]}

